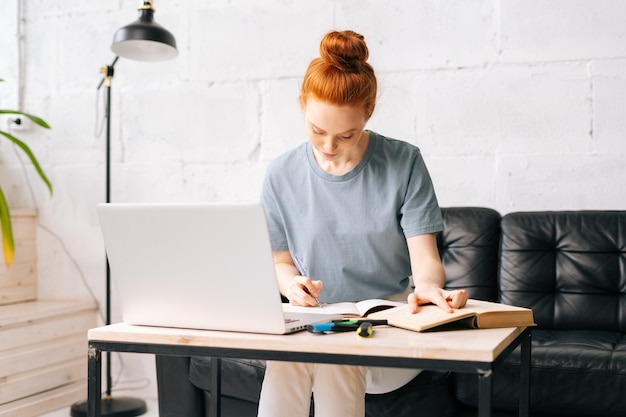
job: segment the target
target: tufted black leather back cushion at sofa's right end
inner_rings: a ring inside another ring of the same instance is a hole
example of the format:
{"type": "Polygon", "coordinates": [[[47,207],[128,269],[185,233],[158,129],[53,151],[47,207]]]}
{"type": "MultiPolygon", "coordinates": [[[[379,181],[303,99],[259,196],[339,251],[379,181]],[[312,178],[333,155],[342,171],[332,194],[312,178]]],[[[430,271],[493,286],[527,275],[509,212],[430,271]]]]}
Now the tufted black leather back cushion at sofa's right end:
{"type": "Polygon", "coordinates": [[[507,214],[499,278],[543,329],[626,333],[626,212],[507,214]]]}

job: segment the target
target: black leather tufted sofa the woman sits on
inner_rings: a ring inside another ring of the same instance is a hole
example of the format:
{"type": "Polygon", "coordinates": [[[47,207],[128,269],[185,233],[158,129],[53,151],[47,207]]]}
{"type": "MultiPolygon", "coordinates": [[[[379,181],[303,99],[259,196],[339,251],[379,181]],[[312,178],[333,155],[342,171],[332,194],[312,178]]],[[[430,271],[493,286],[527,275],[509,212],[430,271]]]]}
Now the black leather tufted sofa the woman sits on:
{"type": "MultiPolygon", "coordinates": [[[[442,209],[448,288],[530,307],[532,416],[626,416],[626,211],[442,209]]],[[[211,358],[157,356],[161,417],[203,417],[211,358]]],[[[256,415],[263,361],[222,360],[222,415],[256,415]]],[[[494,416],[517,415],[519,349],[494,374],[494,416]]],[[[368,395],[377,416],[476,415],[475,376],[423,372],[368,395]]]]}

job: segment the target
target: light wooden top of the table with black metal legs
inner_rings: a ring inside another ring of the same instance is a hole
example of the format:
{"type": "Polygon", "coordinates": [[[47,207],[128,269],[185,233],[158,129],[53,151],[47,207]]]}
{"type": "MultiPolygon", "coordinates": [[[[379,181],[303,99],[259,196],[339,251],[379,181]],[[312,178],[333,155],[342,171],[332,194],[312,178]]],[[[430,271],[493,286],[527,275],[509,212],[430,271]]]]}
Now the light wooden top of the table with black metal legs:
{"type": "Polygon", "coordinates": [[[524,330],[525,327],[508,327],[418,333],[376,326],[372,337],[362,338],[355,332],[317,335],[302,331],[271,335],[117,323],[89,330],[88,339],[128,344],[493,362],[524,330]]]}

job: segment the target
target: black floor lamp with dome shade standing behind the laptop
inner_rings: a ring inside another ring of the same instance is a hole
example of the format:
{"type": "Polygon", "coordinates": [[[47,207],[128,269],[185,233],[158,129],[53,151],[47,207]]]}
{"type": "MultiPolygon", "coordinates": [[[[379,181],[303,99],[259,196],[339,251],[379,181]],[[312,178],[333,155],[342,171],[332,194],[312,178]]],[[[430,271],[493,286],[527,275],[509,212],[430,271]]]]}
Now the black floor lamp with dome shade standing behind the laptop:
{"type": "MultiPolygon", "coordinates": [[[[113,37],[111,50],[116,57],[102,68],[103,78],[98,90],[106,87],[106,202],[111,202],[111,83],[114,67],[119,57],[137,61],[165,61],[178,55],[176,39],[165,28],[154,21],[152,0],[143,0],[139,7],[139,19],[118,29],[113,37]]],[[[106,324],[111,324],[111,271],[106,262],[106,324]]],[[[102,399],[102,416],[134,417],[144,414],[148,408],[143,400],[130,397],[114,398],[111,394],[111,352],[106,353],[106,395],[102,399]]],[[[87,402],[78,402],[71,407],[71,417],[87,416],[87,402]]]]}

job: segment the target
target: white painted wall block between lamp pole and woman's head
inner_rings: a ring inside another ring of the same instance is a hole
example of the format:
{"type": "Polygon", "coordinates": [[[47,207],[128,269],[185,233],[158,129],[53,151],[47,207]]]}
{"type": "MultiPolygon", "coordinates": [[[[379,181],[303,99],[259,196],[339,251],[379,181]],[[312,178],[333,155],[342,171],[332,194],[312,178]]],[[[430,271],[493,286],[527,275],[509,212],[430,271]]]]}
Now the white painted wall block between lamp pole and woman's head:
{"type": "Polygon", "coordinates": [[[253,83],[127,91],[120,126],[131,164],[247,160],[259,146],[259,93],[253,83]],[[143,109],[143,111],[142,111],[143,109]]]}

